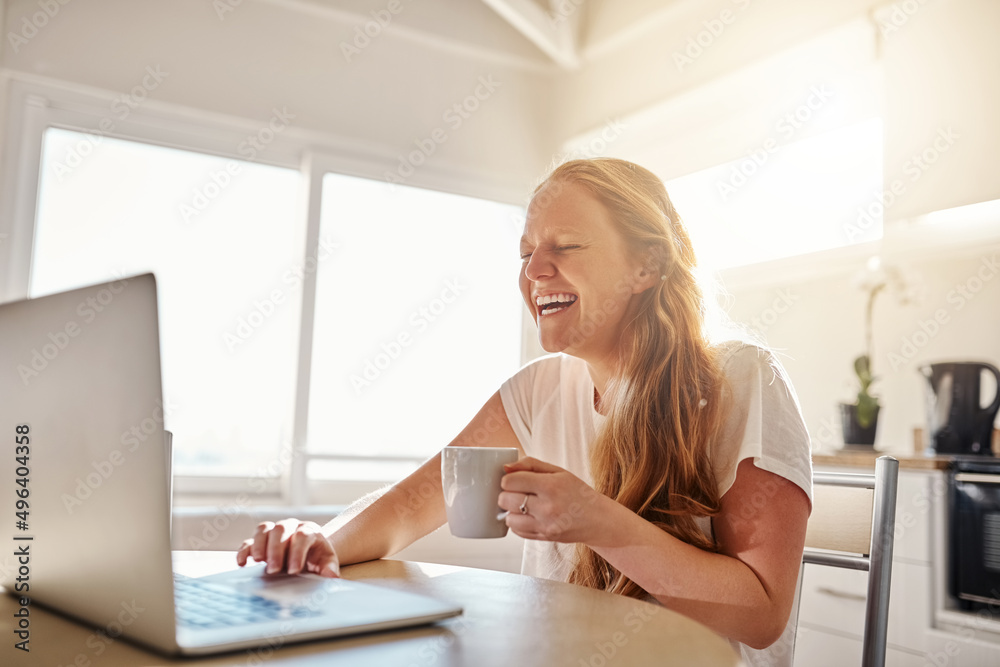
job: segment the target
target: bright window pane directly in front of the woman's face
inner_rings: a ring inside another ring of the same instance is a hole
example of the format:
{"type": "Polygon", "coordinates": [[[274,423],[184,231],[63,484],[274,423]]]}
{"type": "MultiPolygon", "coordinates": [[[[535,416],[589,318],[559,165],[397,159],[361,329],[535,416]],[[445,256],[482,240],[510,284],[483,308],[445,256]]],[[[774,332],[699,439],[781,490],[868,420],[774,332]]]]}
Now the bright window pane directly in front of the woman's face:
{"type": "Polygon", "coordinates": [[[517,370],[522,226],[513,206],[324,177],[308,432],[337,458],[310,476],[433,454],[517,370]]]}

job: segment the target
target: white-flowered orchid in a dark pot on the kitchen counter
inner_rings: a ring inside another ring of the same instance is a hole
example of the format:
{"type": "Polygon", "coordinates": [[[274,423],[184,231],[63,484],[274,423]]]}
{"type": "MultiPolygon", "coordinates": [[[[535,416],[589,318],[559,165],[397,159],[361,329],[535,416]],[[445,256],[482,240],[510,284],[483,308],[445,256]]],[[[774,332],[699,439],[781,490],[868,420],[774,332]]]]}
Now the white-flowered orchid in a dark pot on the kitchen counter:
{"type": "Polygon", "coordinates": [[[897,293],[900,303],[910,300],[907,282],[895,267],[883,266],[879,257],[868,260],[865,270],[857,278],[858,286],[868,293],[865,308],[865,353],[854,360],[854,374],[858,378],[858,393],[853,403],[840,404],[840,423],[845,445],[874,445],[881,405],[871,393],[877,379],[872,373],[872,311],[875,297],[886,287],[897,293]]]}

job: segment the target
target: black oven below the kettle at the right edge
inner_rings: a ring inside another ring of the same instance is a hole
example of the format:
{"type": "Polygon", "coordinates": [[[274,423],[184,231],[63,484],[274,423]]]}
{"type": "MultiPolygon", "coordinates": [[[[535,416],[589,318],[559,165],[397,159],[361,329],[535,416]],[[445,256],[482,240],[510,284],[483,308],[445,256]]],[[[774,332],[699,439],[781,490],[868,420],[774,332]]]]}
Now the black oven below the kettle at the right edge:
{"type": "Polygon", "coordinates": [[[995,609],[1000,605],[1000,460],[955,459],[949,492],[949,592],[963,609],[995,609]]]}

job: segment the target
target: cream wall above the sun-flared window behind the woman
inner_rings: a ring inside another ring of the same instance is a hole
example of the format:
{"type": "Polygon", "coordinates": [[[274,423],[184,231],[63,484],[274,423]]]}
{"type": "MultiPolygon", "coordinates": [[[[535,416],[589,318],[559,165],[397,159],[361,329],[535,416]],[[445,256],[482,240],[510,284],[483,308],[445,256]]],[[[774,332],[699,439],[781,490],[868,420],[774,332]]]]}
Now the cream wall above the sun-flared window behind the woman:
{"type": "MultiPolygon", "coordinates": [[[[585,67],[578,76],[560,80],[561,125],[567,136],[573,136],[605,118],[677,97],[863,17],[875,4],[874,0],[599,0],[590,10],[595,20],[640,13],[650,20],[642,23],[642,30],[626,30],[617,22],[591,30],[591,57],[585,67]],[[720,25],[723,11],[730,13],[729,22],[720,25]],[[717,36],[699,37],[708,29],[706,23],[717,36]],[[696,44],[693,62],[678,65],[675,54],[686,56],[689,40],[697,39],[708,45],[700,47],[699,54],[696,44]]],[[[767,95],[762,91],[762,98],[767,95]]],[[[672,130],[683,135],[687,127],[679,124],[672,130]]],[[[733,150],[738,155],[743,147],[733,150]]]]}

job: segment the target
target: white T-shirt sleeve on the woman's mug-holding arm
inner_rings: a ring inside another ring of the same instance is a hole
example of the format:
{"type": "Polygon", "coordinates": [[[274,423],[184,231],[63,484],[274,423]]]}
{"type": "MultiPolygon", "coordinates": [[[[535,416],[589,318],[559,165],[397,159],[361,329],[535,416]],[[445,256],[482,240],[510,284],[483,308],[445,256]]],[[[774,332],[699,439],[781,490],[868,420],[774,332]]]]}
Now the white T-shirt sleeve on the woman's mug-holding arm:
{"type": "Polygon", "coordinates": [[[734,344],[723,355],[727,414],[713,458],[719,495],[736,480],[740,461],[784,477],[812,503],[809,431],[785,369],[766,349],[734,344]]]}

